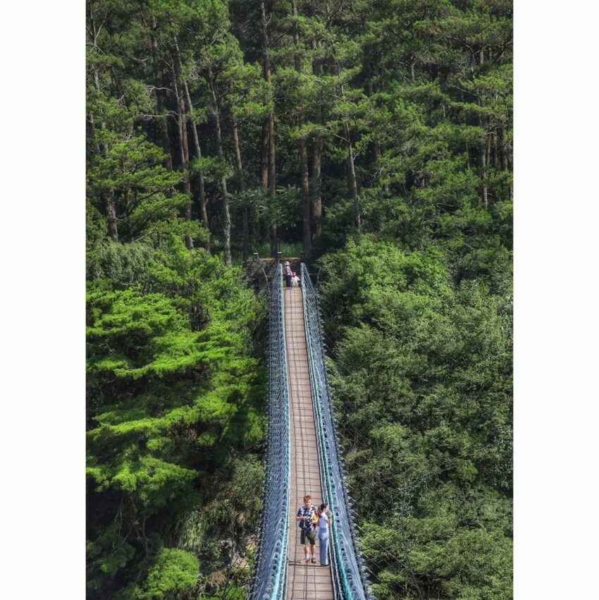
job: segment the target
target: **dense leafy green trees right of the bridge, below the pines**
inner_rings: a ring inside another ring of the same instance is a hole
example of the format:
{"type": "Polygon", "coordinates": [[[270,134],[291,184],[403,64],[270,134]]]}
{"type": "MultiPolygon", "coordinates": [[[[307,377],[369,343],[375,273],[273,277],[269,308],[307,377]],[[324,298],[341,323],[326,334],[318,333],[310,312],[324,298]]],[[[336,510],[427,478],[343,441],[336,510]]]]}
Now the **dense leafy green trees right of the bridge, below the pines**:
{"type": "Polygon", "coordinates": [[[322,259],[333,381],[362,541],[383,598],[511,596],[511,300],[443,252],[322,259]]]}

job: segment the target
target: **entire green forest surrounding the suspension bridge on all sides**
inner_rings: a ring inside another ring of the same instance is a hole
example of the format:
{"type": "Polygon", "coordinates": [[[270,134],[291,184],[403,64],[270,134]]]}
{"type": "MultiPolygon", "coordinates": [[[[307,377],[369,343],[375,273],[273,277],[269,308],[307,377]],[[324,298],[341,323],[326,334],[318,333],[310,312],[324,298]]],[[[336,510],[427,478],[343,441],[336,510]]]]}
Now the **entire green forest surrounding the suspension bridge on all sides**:
{"type": "Polygon", "coordinates": [[[239,264],[302,247],[378,596],[509,598],[510,0],[87,0],[87,51],[90,597],[242,584],[239,264]]]}

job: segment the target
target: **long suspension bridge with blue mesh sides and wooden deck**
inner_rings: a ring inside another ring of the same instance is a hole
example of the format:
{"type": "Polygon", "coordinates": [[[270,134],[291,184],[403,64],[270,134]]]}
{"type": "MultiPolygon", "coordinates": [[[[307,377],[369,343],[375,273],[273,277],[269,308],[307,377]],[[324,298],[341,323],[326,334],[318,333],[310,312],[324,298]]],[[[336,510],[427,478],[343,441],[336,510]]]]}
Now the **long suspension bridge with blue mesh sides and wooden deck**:
{"type": "Polygon", "coordinates": [[[318,294],[303,262],[300,288],[283,288],[280,261],[273,271],[264,512],[249,600],[374,600],[335,430],[318,294]],[[295,515],[306,494],[331,509],[327,566],[302,561],[295,515]]]}

